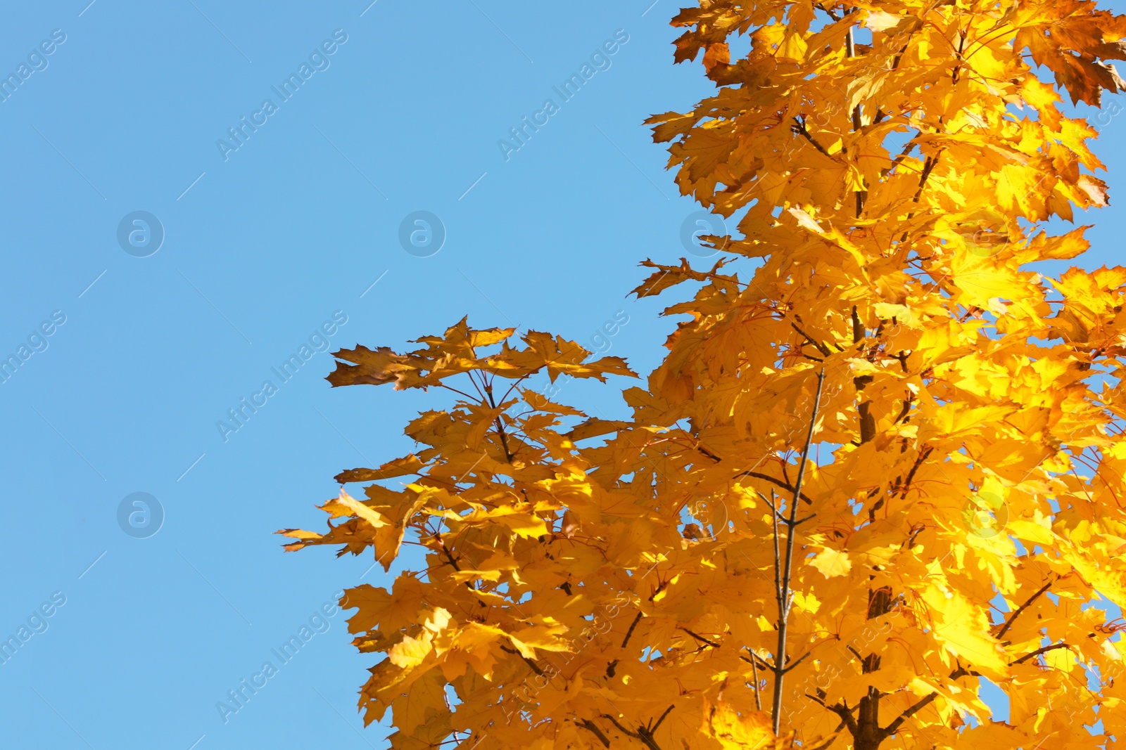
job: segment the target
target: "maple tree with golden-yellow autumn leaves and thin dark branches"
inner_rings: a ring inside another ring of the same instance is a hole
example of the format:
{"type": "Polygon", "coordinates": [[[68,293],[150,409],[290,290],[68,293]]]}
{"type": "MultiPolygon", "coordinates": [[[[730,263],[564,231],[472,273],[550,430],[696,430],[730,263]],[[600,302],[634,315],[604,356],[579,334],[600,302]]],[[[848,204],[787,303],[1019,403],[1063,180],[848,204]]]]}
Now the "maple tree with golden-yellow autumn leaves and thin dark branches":
{"type": "Polygon", "coordinates": [[[1126,269],[1052,275],[1107,204],[1126,18],[1084,0],[700,0],[715,96],[647,124],[725,217],[626,419],[534,390],[633,373],[545,333],[336,353],[452,391],[325,533],[393,748],[1114,748],[1126,729],[1126,269]],[[750,51],[732,61],[729,42],[750,51]],[[1071,112],[1071,114],[1065,114],[1071,112]],[[1055,226],[1055,225],[1053,225],[1055,226]],[[729,257],[730,255],[730,257],[729,257]],[[992,719],[985,689],[1008,701],[992,719]]]}

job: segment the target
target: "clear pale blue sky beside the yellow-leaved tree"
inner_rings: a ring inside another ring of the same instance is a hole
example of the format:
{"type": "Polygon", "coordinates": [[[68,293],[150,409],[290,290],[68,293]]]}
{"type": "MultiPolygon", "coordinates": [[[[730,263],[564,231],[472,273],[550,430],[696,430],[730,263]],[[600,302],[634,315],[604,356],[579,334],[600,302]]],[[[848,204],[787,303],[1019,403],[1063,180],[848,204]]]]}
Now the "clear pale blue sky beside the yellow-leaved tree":
{"type": "MultiPolygon", "coordinates": [[[[0,26],[6,744],[383,747],[355,708],[373,658],[321,606],[386,577],[271,532],[323,527],[332,477],[445,401],[331,390],[324,350],[468,315],[652,369],[673,324],[626,292],[698,207],[641,121],[709,91],[672,65],[678,6],[88,1],[0,26]]],[[[1118,262],[1116,213],[1085,265],[1118,262]]],[[[560,398],[611,415],[622,385],[560,398]]]]}

